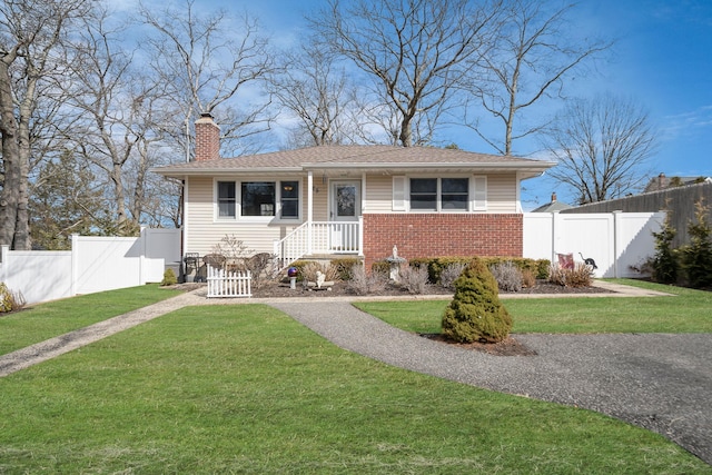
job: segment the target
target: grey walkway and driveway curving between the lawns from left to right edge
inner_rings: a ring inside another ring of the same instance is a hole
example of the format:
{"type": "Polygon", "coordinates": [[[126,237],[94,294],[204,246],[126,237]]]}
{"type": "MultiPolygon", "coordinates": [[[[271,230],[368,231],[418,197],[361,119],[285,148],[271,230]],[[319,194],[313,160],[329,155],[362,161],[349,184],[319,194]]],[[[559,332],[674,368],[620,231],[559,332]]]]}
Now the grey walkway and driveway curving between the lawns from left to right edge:
{"type": "MultiPolygon", "coordinates": [[[[617,296],[625,295],[650,294],[627,287],[617,296]]],[[[607,414],[662,434],[712,464],[711,334],[515,335],[537,355],[494,356],[396,329],[353,307],[353,299],[207,299],[196,290],[2,355],[0,377],[185,306],[265,303],[345,349],[414,372],[607,414]]]]}

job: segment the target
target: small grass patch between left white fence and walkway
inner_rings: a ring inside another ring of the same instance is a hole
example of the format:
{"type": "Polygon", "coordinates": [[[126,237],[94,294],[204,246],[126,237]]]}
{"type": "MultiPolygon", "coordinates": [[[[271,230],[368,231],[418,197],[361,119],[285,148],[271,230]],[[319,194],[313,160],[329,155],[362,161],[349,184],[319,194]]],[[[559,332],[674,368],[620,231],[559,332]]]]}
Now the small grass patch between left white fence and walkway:
{"type": "Polygon", "coordinates": [[[89,294],[0,314],[0,355],[179,295],[156,285],[89,294]]]}

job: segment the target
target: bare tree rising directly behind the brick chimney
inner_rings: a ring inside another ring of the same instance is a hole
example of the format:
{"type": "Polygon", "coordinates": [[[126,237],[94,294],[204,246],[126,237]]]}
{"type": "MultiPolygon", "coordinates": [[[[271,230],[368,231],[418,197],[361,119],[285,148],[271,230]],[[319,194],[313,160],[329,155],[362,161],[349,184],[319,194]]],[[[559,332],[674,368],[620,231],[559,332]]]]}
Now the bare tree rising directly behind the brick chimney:
{"type": "MultiPolygon", "coordinates": [[[[224,150],[254,151],[250,138],[269,130],[273,120],[270,99],[257,87],[274,69],[268,39],[247,14],[199,14],[194,6],[195,0],[186,0],[182,8],[160,11],[140,7],[141,21],[152,29],[144,49],[156,75],[171,87],[166,132],[185,145],[186,127],[211,112],[220,123],[224,150]]],[[[184,156],[189,156],[185,149],[184,156]]]]}

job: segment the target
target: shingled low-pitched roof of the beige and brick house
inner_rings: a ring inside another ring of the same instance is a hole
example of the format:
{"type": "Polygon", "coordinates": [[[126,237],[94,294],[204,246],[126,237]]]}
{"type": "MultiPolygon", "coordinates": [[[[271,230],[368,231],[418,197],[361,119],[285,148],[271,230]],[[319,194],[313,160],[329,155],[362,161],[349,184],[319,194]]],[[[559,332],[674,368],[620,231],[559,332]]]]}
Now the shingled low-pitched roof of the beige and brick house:
{"type": "Polygon", "coordinates": [[[216,176],[259,172],[320,174],[373,171],[384,174],[413,170],[468,170],[481,172],[520,171],[522,178],[535,177],[556,165],[511,156],[475,154],[471,151],[431,147],[392,146],[322,146],[275,151],[245,157],[191,161],[155,168],[166,177],[216,176]]]}

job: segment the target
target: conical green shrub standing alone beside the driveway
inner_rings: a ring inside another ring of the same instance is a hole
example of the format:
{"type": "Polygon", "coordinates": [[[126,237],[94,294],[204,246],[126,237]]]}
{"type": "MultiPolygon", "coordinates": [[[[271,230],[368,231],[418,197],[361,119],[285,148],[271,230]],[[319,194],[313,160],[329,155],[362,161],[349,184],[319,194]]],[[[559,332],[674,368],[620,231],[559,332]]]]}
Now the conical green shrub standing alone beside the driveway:
{"type": "Polygon", "coordinates": [[[500,303],[497,281],[475,258],[455,280],[455,296],[443,315],[443,334],[459,343],[497,343],[511,329],[512,317],[500,303]]]}

